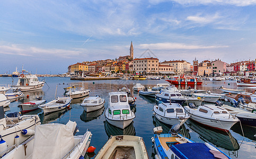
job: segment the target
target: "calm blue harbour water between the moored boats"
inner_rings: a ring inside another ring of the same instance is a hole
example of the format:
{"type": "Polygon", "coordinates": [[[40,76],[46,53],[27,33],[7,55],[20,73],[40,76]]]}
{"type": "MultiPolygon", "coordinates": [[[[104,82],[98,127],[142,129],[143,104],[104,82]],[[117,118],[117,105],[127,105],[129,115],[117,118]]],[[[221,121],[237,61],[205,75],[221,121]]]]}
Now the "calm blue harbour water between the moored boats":
{"type": "MultiPolygon", "coordinates": [[[[105,99],[105,108],[108,107],[108,93],[115,92],[118,88],[125,85],[129,89],[136,83],[142,83],[145,86],[155,86],[157,83],[167,83],[165,80],[146,80],[146,81],[121,81],[121,80],[109,80],[109,81],[70,81],[69,78],[63,77],[45,77],[47,84],[43,86],[41,91],[25,92],[24,98],[19,101],[14,101],[10,104],[10,108],[7,108],[6,113],[19,111],[17,107],[19,103],[32,101],[37,96],[43,96],[43,99],[51,101],[55,98],[55,91],[57,87],[57,96],[64,94],[64,87],[69,85],[84,86],[89,89],[90,96],[100,95],[105,99]],[[94,82],[94,83],[93,83],[94,82]],[[49,86],[49,87],[48,87],[49,86]],[[27,98],[29,95],[29,98],[27,98]],[[10,109],[10,110],[9,110],[10,109]]],[[[0,77],[0,84],[16,84],[17,78],[11,77],[0,77]]],[[[198,86],[199,90],[210,90],[211,92],[221,93],[218,88],[220,86],[227,88],[236,89],[236,83],[234,81],[204,81],[201,86],[198,86]]],[[[185,89],[185,87],[181,87],[185,89]]],[[[239,87],[239,89],[244,89],[239,87]]],[[[246,91],[252,92],[253,89],[246,88],[246,91]]],[[[153,105],[155,105],[155,99],[146,98],[145,96],[139,95],[134,92],[136,101],[136,118],[134,122],[129,125],[125,130],[116,128],[105,121],[104,108],[95,112],[86,113],[84,108],[80,106],[83,99],[75,99],[72,101],[72,109],[51,113],[48,116],[43,116],[42,111],[36,110],[31,113],[37,113],[41,117],[42,123],[64,123],[68,120],[76,121],[79,127],[79,132],[76,135],[83,135],[87,129],[92,132],[91,146],[96,147],[95,153],[100,151],[103,145],[107,142],[110,135],[136,135],[143,137],[147,147],[148,156],[151,158],[152,155],[152,142],[151,137],[153,136],[153,128],[155,126],[162,126],[164,133],[169,131],[169,125],[158,121],[153,117],[153,105]]],[[[231,158],[255,158],[256,156],[256,128],[242,126],[243,133],[240,124],[234,125],[229,133],[209,129],[204,126],[200,126],[188,120],[184,127],[187,136],[190,136],[194,142],[208,142],[215,145],[223,152],[228,154],[231,158]],[[244,137],[243,137],[244,134],[244,137]]],[[[88,156],[87,156],[88,157],[88,156]]],[[[93,158],[93,157],[92,157],[93,158]]]]}

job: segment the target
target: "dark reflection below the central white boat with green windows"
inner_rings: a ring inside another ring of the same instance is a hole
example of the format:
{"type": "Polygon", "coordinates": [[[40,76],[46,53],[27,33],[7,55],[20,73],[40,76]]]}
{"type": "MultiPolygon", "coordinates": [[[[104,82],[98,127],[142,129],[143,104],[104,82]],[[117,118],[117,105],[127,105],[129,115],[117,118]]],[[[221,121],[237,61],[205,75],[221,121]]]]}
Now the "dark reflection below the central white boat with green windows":
{"type": "Polygon", "coordinates": [[[111,125],[107,120],[104,121],[105,131],[108,137],[117,135],[132,135],[135,136],[134,122],[131,122],[125,129],[120,129],[111,125]]]}

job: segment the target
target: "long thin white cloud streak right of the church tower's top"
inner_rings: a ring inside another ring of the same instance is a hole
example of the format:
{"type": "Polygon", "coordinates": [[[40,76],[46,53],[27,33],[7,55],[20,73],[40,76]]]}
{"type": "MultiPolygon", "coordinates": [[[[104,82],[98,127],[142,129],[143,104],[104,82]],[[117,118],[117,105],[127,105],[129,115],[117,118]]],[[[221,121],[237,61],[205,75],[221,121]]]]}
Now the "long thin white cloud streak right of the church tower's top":
{"type": "Polygon", "coordinates": [[[140,49],[154,49],[154,50],[176,50],[176,49],[216,49],[216,48],[226,48],[228,46],[200,46],[200,45],[188,45],[185,43],[175,43],[175,42],[164,42],[164,43],[150,43],[139,45],[140,49]]]}

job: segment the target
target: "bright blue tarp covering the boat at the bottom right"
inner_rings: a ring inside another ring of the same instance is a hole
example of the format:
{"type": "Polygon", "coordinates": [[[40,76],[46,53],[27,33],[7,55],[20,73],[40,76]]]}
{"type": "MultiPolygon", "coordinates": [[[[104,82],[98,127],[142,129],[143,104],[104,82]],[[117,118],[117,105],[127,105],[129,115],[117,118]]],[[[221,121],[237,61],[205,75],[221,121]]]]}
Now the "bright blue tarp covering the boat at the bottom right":
{"type": "Polygon", "coordinates": [[[215,158],[204,143],[178,144],[171,146],[170,149],[181,159],[215,158]]]}

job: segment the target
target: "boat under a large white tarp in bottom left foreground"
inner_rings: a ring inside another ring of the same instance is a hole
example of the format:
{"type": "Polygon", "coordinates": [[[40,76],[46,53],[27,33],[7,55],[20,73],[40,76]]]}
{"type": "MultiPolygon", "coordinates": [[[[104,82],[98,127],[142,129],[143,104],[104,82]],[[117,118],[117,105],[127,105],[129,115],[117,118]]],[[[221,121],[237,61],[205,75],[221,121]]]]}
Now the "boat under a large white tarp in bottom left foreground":
{"type": "Polygon", "coordinates": [[[48,123],[36,127],[34,136],[13,146],[3,158],[73,158],[84,156],[91,143],[91,131],[74,136],[76,123],[48,123]]]}

